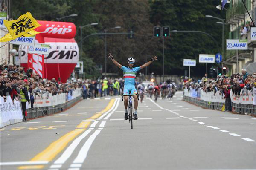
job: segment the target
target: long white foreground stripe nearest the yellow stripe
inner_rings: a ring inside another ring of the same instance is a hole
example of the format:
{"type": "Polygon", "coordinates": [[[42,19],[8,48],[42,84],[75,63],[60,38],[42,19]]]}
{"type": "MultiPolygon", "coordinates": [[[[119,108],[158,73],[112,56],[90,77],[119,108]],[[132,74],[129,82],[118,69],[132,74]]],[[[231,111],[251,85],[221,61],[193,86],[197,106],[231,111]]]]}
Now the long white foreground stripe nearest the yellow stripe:
{"type": "Polygon", "coordinates": [[[62,155],[54,162],[54,164],[64,164],[65,161],[71,156],[73,151],[76,149],[80,141],[85,138],[92,130],[86,130],[81,136],[76,138],[72,144],[62,153],[62,155]]]}

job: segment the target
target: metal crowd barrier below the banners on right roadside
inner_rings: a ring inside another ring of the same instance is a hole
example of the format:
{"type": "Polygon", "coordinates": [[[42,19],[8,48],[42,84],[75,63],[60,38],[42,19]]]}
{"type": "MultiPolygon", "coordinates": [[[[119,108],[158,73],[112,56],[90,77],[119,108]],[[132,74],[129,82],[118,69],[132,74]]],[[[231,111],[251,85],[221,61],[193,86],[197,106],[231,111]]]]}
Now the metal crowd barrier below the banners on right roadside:
{"type": "MultiPolygon", "coordinates": [[[[221,110],[224,104],[222,102],[207,102],[207,101],[200,100],[200,98],[193,98],[185,95],[183,95],[183,100],[191,104],[195,104],[197,106],[203,107],[205,109],[214,109],[214,110],[221,110]]],[[[231,105],[234,113],[256,116],[256,105],[236,104],[233,102],[231,103],[231,105]]]]}

